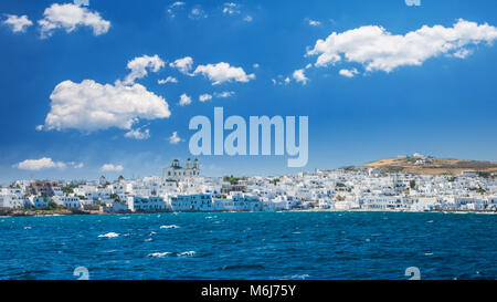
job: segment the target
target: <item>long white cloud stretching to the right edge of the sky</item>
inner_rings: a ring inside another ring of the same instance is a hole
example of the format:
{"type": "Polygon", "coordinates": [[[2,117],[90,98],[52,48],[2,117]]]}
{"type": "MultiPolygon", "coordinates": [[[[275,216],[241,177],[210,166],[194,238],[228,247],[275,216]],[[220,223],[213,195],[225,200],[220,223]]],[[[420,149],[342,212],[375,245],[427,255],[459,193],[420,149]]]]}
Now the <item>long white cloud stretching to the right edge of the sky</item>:
{"type": "Polygon", "coordinates": [[[459,56],[462,51],[497,39],[497,29],[459,19],[454,27],[423,25],[405,35],[394,35],[377,25],[331,33],[318,40],[307,55],[318,55],[316,66],[342,60],[362,64],[367,71],[391,72],[399,66],[421,65],[441,54],[459,56]]]}

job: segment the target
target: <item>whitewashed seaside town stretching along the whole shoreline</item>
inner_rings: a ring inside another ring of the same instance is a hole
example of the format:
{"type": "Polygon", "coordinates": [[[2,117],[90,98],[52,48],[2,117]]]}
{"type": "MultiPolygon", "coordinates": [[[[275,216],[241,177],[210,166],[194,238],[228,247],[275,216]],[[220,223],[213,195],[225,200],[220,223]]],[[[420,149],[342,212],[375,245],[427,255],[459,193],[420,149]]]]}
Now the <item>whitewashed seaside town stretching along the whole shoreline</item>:
{"type": "Polygon", "coordinates": [[[347,167],[267,177],[203,177],[199,160],[177,159],[162,176],[94,181],[17,180],[2,209],[124,214],[162,211],[396,210],[497,211],[496,175],[430,176],[347,167]]]}

